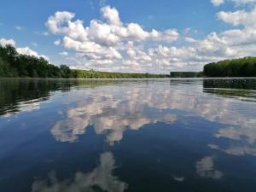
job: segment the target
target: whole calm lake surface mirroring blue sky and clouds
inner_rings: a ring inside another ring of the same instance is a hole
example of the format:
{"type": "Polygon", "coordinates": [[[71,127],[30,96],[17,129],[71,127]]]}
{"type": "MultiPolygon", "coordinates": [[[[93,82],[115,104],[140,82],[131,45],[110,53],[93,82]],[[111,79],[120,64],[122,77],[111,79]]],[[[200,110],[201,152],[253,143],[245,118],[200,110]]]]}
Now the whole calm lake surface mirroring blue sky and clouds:
{"type": "Polygon", "coordinates": [[[255,192],[256,79],[0,80],[1,192],[255,192]]]}

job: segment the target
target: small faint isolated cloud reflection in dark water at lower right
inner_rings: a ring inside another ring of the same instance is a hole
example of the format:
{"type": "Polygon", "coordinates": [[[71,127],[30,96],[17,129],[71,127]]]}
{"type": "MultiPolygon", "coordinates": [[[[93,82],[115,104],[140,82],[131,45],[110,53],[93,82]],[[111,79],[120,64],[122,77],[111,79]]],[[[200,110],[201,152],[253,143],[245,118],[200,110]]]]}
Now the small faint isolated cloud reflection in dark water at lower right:
{"type": "Polygon", "coordinates": [[[213,157],[204,157],[196,162],[196,172],[201,177],[218,179],[224,176],[223,172],[214,170],[213,157]]]}

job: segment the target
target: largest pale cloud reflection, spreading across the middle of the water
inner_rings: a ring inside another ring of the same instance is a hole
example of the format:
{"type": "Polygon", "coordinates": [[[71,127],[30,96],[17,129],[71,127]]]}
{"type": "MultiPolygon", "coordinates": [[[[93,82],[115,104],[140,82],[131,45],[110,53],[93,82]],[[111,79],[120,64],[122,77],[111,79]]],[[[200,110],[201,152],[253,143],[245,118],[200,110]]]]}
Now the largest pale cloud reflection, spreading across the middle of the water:
{"type": "Polygon", "coordinates": [[[156,122],[173,122],[177,119],[173,110],[181,110],[190,116],[234,127],[219,130],[218,138],[255,142],[255,113],[247,110],[255,104],[203,93],[202,85],[197,83],[172,82],[170,86],[168,81],[125,82],[121,86],[77,90],[67,98],[77,107],[69,108],[66,119],[56,122],[51,132],[57,141],[72,143],[92,125],[96,134],[106,134],[107,142],[114,143],[122,140],[126,130],[138,130],[156,122]]]}

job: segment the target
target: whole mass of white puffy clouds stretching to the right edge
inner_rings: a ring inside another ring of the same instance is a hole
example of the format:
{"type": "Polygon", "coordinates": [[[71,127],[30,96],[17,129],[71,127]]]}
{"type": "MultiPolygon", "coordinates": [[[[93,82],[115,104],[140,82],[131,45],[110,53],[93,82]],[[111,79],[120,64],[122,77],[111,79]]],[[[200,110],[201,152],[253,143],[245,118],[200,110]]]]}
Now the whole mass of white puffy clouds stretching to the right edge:
{"type": "Polygon", "coordinates": [[[189,28],[179,38],[176,29],[145,30],[135,22],[124,23],[119,11],[109,6],[102,7],[101,15],[102,20],[90,20],[88,26],[67,11],[56,12],[47,20],[49,32],[62,37],[56,43],[75,52],[67,58],[73,68],[166,73],[184,68],[201,70],[209,62],[256,55],[256,9],[220,11],[218,20],[233,29],[211,32],[201,39],[193,38],[189,28]],[[183,46],[172,45],[178,39],[183,39],[183,46]]]}

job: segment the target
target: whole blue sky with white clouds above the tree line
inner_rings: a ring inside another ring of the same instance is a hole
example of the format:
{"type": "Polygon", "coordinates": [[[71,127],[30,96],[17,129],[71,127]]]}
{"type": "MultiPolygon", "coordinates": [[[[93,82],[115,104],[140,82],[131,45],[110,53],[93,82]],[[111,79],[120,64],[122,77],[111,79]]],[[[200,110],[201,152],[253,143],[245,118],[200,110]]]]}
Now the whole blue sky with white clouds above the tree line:
{"type": "Polygon", "coordinates": [[[255,2],[9,0],[0,9],[0,43],[73,68],[197,71],[207,62],[256,55],[255,2]]]}

